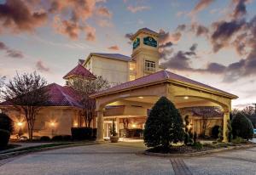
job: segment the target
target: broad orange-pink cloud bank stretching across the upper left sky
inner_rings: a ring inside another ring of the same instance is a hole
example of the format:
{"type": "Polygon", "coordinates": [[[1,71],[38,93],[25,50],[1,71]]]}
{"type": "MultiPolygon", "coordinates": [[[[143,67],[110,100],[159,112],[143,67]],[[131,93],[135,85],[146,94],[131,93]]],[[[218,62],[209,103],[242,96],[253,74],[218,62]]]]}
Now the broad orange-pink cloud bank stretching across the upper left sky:
{"type": "MultiPolygon", "coordinates": [[[[53,29],[72,40],[86,35],[88,41],[95,41],[95,29],[87,20],[97,16],[101,25],[108,25],[105,18],[112,18],[108,8],[102,6],[105,0],[6,0],[0,4],[1,31],[32,32],[43,25],[51,25],[53,29]]],[[[111,24],[110,22],[108,22],[111,24]]]]}

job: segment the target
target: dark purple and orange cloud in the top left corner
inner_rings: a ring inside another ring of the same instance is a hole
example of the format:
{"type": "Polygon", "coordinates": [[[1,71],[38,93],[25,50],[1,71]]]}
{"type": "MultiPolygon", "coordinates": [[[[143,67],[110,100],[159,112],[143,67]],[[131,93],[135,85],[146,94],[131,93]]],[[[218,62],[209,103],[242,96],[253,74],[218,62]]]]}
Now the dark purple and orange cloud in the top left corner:
{"type": "Polygon", "coordinates": [[[44,25],[48,18],[44,10],[32,11],[31,8],[20,0],[6,0],[0,4],[1,30],[12,32],[34,31],[38,26],[44,25]]]}

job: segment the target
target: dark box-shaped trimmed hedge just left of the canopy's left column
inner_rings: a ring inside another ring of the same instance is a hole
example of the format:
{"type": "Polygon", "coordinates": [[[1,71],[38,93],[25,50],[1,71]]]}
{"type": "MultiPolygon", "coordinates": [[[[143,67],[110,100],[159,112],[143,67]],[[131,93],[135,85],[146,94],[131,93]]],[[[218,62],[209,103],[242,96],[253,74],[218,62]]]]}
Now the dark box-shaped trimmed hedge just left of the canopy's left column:
{"type": "Polygon", "coordinates": [[[74,140],[86,140],[96,138],[96,128],[91,127],[72,127],[72,138],[74,140]]]}

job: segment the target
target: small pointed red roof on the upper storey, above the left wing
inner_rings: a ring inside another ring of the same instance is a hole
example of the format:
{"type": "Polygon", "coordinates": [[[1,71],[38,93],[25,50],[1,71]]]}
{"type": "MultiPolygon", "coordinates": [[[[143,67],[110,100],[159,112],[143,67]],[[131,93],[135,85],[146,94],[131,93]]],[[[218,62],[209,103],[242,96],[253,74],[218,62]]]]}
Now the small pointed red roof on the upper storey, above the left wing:
{"type": "Polygon", "coordinates": [[[64,79],[67,79],[70,76],[83,76],[86,78],[96,78],[90,71],[88,71],[83,65],[78,64],[73,70],[69,71],[66,76],[63,76],[64,79]]]}

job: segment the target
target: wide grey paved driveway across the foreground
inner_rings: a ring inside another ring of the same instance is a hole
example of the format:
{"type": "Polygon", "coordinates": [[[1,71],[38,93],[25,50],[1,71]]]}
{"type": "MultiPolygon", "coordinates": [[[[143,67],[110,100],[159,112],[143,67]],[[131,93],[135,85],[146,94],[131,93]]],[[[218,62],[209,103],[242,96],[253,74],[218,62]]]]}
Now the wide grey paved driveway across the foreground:
{"type": "Polygon", "coordinates": [[[256,148],[192,158],[137,154],[143,143],[96,144],[0,161],[0,175],[256,174],[256,148]]]}

